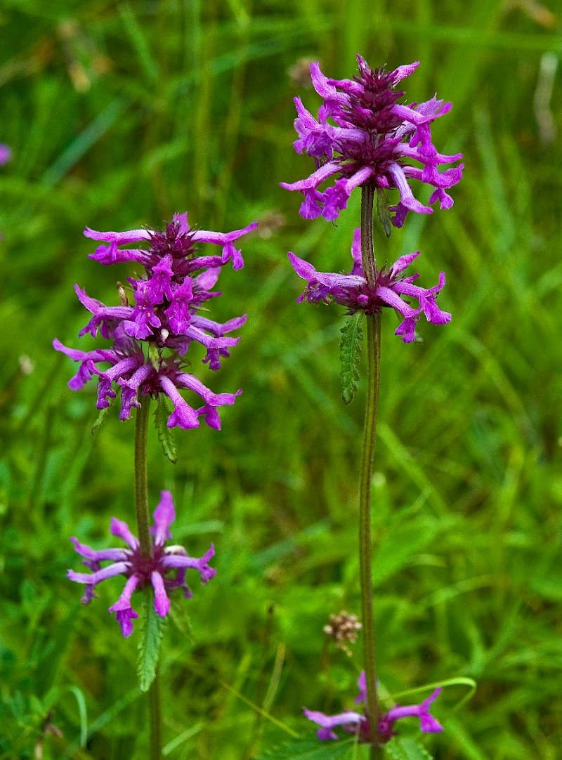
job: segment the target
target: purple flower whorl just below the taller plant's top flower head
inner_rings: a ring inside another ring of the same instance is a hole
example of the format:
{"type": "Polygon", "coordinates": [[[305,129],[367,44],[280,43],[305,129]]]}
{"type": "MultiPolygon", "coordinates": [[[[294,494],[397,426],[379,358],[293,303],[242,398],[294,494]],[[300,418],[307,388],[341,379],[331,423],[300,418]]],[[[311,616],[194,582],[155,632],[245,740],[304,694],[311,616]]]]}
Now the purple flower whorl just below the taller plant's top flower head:
{"type": "Polygon", "coordinates": [[[367,315],[380,312],[383,307],[390,307],[398,312],[402,318],[395,335],[402,336],[404,343],[411,343],[415,337],[415,325],[422,313],[433,325],[445,325],[451,320],[449,312],[442,312],[437,306],[437,294],[445,284],[445,273],[441,272],[439,284],[430,288],[414,285],[418,274],[410,277],[398,277],[419,255],[419,251],[398,258],[388,269],[382,268],[377,276],[373,287],[367,283],[361,264],[361,231],[357,228],[354,232],[351,255],[354,265],[351,274],[331,274],[317,272],[308,261],[289,252],[289,261],[299,277],[306,280],[306,290],[298,301],[329,302],[334,299],[336,303],[345,306],[350,314],[362,311],[367,315]],[[418,308],[414,308],[403,299],[414,298],[418,301],[418,308]]]}

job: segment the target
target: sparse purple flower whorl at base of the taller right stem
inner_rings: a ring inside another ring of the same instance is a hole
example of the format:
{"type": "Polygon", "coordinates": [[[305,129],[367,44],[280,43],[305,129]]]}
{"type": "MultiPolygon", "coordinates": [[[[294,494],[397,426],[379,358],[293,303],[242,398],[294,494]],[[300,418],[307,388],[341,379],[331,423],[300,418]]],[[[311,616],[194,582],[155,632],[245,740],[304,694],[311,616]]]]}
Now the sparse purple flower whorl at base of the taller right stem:
{"type": "MultiPolygon", "coordinates": [[[[365,702],[367,700],[365,673],[362,672],[358,681],[359,696],[356,698],[356,702],[365,702]]],[[[430,714],[430,705],[440,695],[441,689],[435,689],[435,691],[423,702],[421,705],[407,705],[405,707],[396,707],[389,710],[379,720],[378,734],[379,741],[386,743],[392,736],[395,736],[394,724],[397,720],[403,717],[417,717],[420,721],[420,730],[422,733],[440,733],[443,731],[443,726],[433,715],[430,714]]],[[[364,713],[358,713],[354,711],[347,711],[338,715],[325,715],[321,712],[313,710],[307,710],[304,708],[304,714],[313,723],[320,726],[316,731],[316,736],[319,739],[337,739],[338,735],[333,730],[336,726],[341,726],[343,730],[351,733],[358,733],[359,741],[368,742],[370,735],[370,726],[367,716],[364,713]]]]}

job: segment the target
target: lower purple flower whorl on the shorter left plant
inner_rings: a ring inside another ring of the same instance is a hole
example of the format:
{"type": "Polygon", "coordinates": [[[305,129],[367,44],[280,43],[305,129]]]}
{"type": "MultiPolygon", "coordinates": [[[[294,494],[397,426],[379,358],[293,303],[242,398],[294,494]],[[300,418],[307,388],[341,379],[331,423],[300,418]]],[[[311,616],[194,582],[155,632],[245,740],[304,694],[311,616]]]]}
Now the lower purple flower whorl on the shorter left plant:
{"type": "Polygon", "coordinates": [[[210,581],[217,572],[208,565],[209,559],[214,556],[212,543],[208,552],[199,558],[190,557],[183,546],[164,546],[165,541],[171,539],[170,524],[175,517],[172,495],[169,491],[162,491],[160,503],[154,510],[154,526],[151,527],[154,540],[150,557],[141,553],[138,538],[132,534],[129,526],[116,518],[111,518],[111,533],[122,539],[129,547],[127,549],[96,551],[80,543],[77,538],[71,538],[78,554],[85,558],[84,565],[91,570],[91,573],[68,570],[71,581],[86,584],[83,604],[90,603],[96,596],[95,587],[106,578],[112,578],[113,575],[125,575],[127,578],[121,596],[109,609],[110,613],[116,613],[116,620],[121,625],[124,636],[132,634],[132,621],[138,618],[138,613],[131,606],[134,591],[151,584],[154,589],[154,609],[160,617],[165,617],[170,610],[170,591],[183,588],[187,599],[193,595],[186,584],[187,568],[198,570],[202,583],[210,581]],[[102,568],[101,562],[110,562],[110,565],[102,568]]]}

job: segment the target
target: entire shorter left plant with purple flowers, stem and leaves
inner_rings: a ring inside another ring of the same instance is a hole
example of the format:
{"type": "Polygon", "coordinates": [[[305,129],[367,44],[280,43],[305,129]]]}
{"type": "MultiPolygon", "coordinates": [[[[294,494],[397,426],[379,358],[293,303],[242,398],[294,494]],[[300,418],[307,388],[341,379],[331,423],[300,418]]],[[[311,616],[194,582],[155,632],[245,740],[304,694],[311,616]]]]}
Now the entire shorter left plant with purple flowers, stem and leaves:
{"type": "Polygon", "coordinates": [[[125,586],[110,613],[115,613],[122,635],[133,632],[139,614],[134,597],[144,596],[144,638],[141,641],[139,676],[141,689],[148,690],[150,704],[151,760],[162,757],[160,686],[158,683],[158,621],[170,610],[170,594],[181,589],[186,598],[192,591],[186,583],[188,572],[197,571],[203,584],[215,575],[209,565],[214,556],[211,544],[202,557],[189,556],[184,546],[171,544],[170,524],[175,519],[172,495],[161,492],[154,511],[154,524],[148,511],[148,473],[146,443],[148,410],[157,401],[159,437],[167,456],[175,461],[170,428],[196,428],[201,420],[221,429],[219,409],[233,404],[242,392],[214,393],[190,370],[189,348],[199,344],[205,349],[203,363],[211,370],[221,364],[240,337],[231,333],[244,325],[246,315],[227,322],[207,316],[207,305],[221,293],[214,290],[221,268],[232,264],[243,267],[243,258],[234,245],[256,228],[252,223],[242,230],[217,233],[189,225],[187,214],[175,214],[164,230],[96,232],[87,228],[84,235],[101,244],[90,254],[100,264],[133,262],[140,274],[118,283],[119,302],[106,306],[75,286],[81,304],[90,312],[80,336],[101,337],[104,345],[94,350],[67,347],[57,338],[53,347],[76,363],[78,372],[68,383],[78,390],[97,378],[97,408],[100,413],[119,396],[119,418],[129,420],[135,410],[135,513],[137,533],[129,525],[112,518],[111,533],[123,546],[93,549],[78,538],[71,539],[89,572],[68,571],[68,578],[84,585],[82,603],[89,604],[102,581],[122,575],[125,586]],[[201,245],[218,246],[211,252],[199,251],[201,245]],[[184,396],[187,394],[187,398],[184,396]],[[170,405],[171,404],[171,409],[170,405]],[[154,617],[154,614],[156,617],[154,617]]]}

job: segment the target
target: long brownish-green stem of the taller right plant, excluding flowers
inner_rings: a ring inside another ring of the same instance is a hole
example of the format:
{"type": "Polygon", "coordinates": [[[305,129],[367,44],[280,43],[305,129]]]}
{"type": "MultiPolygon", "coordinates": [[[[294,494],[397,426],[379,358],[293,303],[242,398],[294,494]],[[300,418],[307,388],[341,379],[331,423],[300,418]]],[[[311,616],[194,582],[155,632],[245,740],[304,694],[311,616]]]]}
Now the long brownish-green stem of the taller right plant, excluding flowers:
{"type": "MultiPolygon", "coordinates": [[[[361,195],[361,259],[367,283],[374,287],[376,261],[373,252],[373,188],[362,188],[361,195]]],[[[370,725],[371,760],[381,758],[378,742],[380,719],[376,687],[375,631],[373,616],[373,553],[371,539],[370,492],[373,476],[373,450],[376,439],[376,418],[379,410],[380,385],[380,314],[367,315],[367,404],[365,407],[363,454],[359,488],[359,568],[361,584],[361,616],[363,620],[364,664],[367,682],[367,718],[370,725]]]]}

